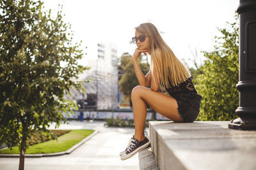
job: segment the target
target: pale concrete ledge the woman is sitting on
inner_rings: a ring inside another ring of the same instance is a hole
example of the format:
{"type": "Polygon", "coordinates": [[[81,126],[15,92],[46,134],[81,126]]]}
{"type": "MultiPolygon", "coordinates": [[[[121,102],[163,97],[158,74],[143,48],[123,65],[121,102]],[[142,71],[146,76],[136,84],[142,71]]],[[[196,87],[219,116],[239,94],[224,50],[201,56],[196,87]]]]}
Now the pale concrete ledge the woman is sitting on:
{"type": "Polygon", "coordinates": [[[149,122],[159,169],[255,169],[256,131],[228,129],[227,122],[149,122]]]}

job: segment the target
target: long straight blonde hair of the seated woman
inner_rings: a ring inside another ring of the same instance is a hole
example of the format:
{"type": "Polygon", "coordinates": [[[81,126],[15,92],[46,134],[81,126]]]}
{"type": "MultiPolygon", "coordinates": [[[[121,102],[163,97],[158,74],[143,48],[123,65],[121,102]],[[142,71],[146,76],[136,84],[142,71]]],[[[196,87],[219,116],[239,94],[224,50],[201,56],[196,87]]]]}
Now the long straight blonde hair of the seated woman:
{"type": "Polygon", "coordinates": [[[142,34],[147,34],[149,37],[150,70],[154,81],[159,82],[160,89],[164,88],[163,90],[166,90],[171,85],[177,86],[191,76],[188,69],[177,59],[171,48],[164,42],[153,24],[143,23],[135,29],[142,34]]]}

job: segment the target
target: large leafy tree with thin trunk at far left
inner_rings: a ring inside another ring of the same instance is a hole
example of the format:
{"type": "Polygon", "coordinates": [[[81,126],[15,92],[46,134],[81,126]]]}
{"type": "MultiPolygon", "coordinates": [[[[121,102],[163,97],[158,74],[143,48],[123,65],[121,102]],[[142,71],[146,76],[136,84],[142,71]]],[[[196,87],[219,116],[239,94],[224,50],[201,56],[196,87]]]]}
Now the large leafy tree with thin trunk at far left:
{"type": "Polygon", "coordinates": [[[76,103],[64,99],[72,87],[81,89],[77,75],[83,56],[80,43],[72,45],[70,25],[61,8],[56,18],[42,10],[42,1],[0,1],[0,143],[20,146],[19,169],[24,169],[26,139],[41,134],[51,122],[56,127],[63,112],[76,103]]]}

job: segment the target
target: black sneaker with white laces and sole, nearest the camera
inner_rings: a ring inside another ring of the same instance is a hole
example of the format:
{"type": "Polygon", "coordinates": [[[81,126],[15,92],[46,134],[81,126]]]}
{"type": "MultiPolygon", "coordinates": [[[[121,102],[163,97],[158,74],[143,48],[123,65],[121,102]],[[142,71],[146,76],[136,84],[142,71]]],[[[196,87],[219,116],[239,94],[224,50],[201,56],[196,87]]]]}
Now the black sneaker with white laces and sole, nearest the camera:
{"type": "Polygon", "coordinates": [[[143,141],[138,141],[138,139],[132,138],[130,145],[127,147],[125,154],[121,156],[121,159],[122,160],[129,159],[140,150],[147,148],[148,145],[150,145],[150,141],[148,141],[147,137],[145,137],[143,141]]]}

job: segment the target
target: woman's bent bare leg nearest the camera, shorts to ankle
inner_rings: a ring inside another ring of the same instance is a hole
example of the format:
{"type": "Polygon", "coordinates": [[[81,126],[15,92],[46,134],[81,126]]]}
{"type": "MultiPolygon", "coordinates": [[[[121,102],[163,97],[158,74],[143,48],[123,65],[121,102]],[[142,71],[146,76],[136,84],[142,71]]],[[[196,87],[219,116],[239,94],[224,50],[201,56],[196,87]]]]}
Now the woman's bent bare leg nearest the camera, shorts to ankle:
{"type": "Polygon", "coordinates": [[[146,103],[157,113],[174,122],[182,122],[178,113],[178,104],[173,97],[166,96],[161,92],[154,92],[147,87],[138,85],[132,89],[132,109],[134,115],[135,134],[134,138],[139,141],[144,139],[144,128],[147,117],[146,103]]]}

